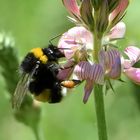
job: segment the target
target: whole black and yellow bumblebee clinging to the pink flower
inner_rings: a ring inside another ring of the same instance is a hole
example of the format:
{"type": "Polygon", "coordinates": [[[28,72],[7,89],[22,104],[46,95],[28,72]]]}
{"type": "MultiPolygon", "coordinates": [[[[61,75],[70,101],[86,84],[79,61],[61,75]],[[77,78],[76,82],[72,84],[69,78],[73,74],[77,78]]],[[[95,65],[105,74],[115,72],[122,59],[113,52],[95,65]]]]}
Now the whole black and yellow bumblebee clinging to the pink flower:
{"type": "Polygon", "coordinates": [[[57,78],[60,65],[58,59],[64,54],[54,45],[47,48],[32,49],[21,62],[21,78],[15,89],[12,100],[13,108],[20,108],[22,101],[29,91],[36,100],[48,103],[61,101],[62,86],[73,88],[78,80],[60,81],[57,78]]]}

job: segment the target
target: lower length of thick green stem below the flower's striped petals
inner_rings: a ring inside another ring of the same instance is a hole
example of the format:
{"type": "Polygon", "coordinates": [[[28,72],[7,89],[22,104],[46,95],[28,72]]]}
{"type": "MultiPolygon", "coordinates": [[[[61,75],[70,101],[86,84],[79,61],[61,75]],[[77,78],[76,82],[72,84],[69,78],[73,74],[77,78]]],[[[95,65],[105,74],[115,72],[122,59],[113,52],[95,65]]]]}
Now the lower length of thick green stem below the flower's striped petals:
{"type": "Polygon", "coordinates": [[[101,85],[94,86],[95,108],[97,116],[99,140],[107,140],[106,120],[104,111],[104,98],[101,85]]]}

